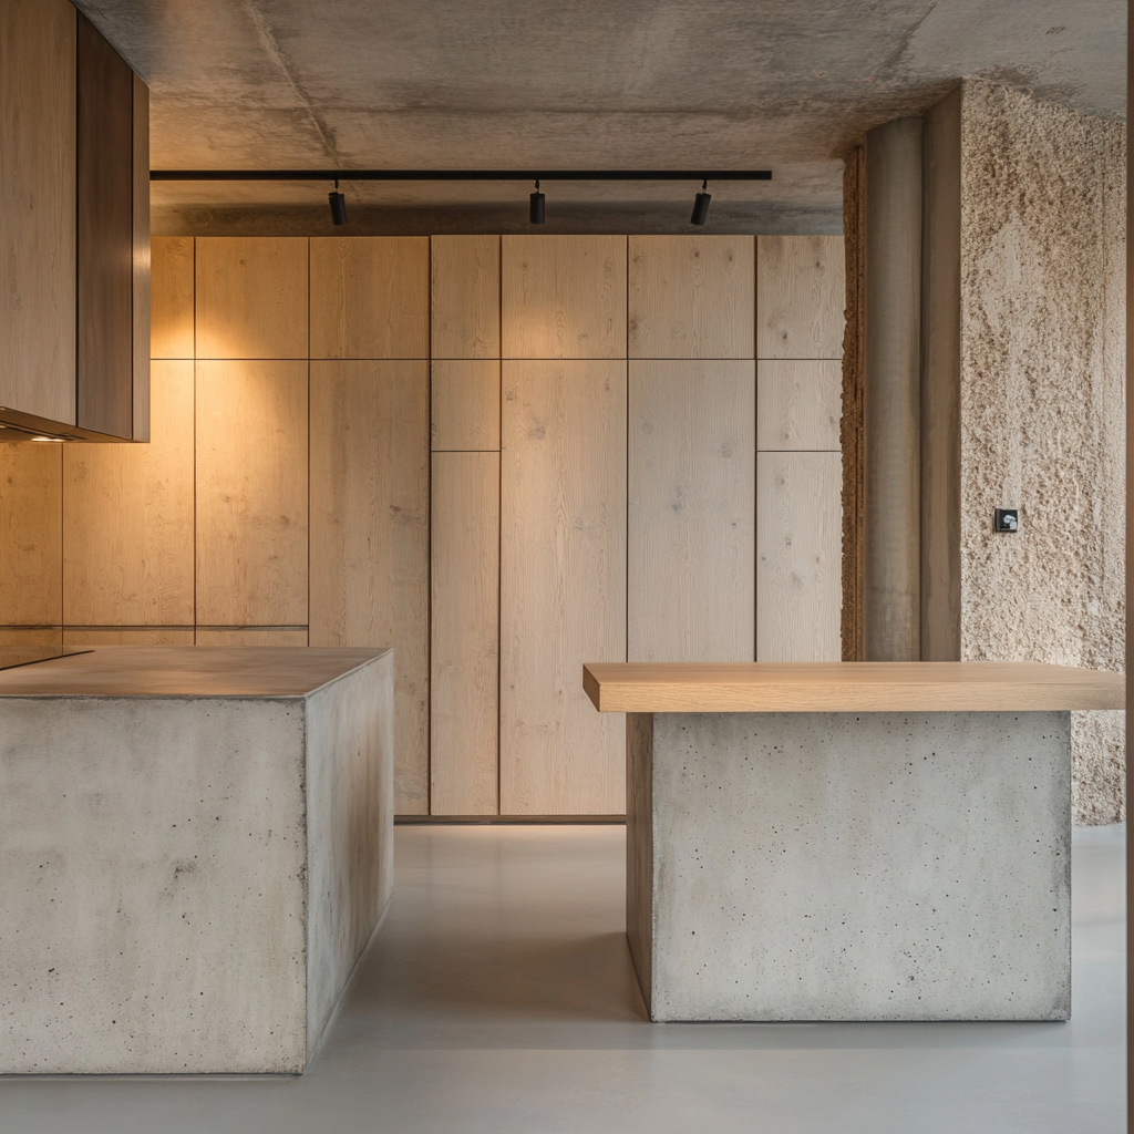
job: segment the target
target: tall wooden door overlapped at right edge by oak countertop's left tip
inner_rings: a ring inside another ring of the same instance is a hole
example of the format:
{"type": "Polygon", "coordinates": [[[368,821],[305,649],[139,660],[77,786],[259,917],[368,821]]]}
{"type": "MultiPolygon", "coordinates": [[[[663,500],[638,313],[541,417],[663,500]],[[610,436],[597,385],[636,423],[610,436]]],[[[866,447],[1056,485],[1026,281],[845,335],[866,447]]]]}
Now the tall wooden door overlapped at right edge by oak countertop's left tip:
{"type": "Polygon", "coordinates": [[[626,659],[626,364],[506,362],[500,811],[621,814],[626,722],[583,665],[626,659]]]}

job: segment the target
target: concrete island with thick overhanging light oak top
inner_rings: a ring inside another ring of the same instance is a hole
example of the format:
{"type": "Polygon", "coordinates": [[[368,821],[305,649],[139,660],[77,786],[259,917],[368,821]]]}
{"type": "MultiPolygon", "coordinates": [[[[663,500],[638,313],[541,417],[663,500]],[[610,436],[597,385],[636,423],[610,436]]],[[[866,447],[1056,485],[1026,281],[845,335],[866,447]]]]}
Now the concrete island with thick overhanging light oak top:
{"type": "Polygon", "coordinates": [[[1067,1019],[1070,711],[1040,665],[591,665],[627,713],[655,1021],[1067,1019]]]}

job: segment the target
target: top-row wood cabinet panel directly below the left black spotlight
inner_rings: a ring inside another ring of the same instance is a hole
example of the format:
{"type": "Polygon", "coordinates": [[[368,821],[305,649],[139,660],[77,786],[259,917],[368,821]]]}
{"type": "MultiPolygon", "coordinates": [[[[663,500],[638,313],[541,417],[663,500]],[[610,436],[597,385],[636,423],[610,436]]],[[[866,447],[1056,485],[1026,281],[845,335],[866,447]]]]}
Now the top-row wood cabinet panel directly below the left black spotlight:
{"type": "Polygon", "coordinates": [[[312,238],[311,357],[429,357],[429,237],[312,238]]]}

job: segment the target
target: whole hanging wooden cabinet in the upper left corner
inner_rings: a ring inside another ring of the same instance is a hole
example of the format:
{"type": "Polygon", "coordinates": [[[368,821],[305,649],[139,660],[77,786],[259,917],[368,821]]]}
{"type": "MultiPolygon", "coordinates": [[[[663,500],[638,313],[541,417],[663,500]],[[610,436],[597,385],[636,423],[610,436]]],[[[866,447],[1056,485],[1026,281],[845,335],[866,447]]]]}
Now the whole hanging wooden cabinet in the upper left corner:
{"type": "Polygon", "coordinates": [[[149,135],[85,16],[0,5],[0,440],[149,439],[149,135]]]}

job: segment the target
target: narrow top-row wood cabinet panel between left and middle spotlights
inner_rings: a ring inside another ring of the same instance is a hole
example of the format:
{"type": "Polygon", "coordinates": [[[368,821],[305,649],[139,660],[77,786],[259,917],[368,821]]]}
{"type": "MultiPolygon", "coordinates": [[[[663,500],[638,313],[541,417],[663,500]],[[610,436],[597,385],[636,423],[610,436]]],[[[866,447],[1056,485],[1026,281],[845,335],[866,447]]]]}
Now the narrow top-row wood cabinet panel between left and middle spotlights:
{"type": "Polygon", "coordinates": [[[500,237],[432,238],[433,357],[500,357],[500,237]]]}

